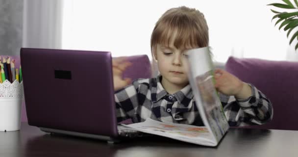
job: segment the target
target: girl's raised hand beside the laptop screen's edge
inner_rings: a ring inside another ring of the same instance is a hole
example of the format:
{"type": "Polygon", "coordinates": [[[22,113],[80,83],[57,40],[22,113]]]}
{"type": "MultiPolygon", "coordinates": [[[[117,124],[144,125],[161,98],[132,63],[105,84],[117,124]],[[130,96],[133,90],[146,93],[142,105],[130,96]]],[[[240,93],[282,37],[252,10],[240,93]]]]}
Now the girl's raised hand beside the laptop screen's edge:
{"type": "Polygon", "coordinates": [[[113,81],[114,90],[119,90],[131,83],[131,78],[122,78],[125,69],[132,65],[131,62],[126,61],[125,57],[118,57],[112,59],[113,64],[113,81]]]}

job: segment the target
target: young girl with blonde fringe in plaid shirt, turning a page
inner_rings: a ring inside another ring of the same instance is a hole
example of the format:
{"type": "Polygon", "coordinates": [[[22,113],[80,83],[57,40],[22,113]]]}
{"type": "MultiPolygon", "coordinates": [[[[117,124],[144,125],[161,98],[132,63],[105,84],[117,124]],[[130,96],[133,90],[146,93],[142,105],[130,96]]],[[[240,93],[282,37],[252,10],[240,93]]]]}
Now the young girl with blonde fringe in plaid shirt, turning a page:
{"type": "MultiPolygon", "coordinates": [[[[207,46],[208,26],[199,10],[181,6],[166,11],[151,35],[151,53],[160,72],[156,78],[129,84],[129,78],[121,75],[130,63],[113,62],[118,121],[131,118],[138,123],[151,118],[203,126],[184,67],[187,50],[207,46]]],[[[230,126],[260,125],[272,119],[272,105],[256,87],[224,70],[215,73],[215,86],[230,126]]]]}

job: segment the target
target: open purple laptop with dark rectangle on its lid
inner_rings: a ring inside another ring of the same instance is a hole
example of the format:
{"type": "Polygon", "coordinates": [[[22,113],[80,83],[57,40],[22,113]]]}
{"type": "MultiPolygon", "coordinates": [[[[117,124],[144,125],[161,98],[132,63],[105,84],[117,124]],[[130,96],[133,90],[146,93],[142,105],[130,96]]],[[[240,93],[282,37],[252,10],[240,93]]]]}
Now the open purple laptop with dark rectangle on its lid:
{"type": "Polygon", "coordinates": [[[28,124],[42,131],[118,142],[110,52],[21,48],[28,124]]]}

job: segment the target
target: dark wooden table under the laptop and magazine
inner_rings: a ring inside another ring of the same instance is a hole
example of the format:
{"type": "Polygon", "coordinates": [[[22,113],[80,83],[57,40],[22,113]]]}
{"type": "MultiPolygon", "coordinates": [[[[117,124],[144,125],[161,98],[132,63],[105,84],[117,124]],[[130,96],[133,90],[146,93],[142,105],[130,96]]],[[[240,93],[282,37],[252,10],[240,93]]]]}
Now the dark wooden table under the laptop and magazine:
{"type": "Polygon", "coordinates": [[[213,148],[159,136],[107,144],[22,122],[20,131],[0,131],[0,157],[298,157],[298,131],[231,128],[213,148]]]}

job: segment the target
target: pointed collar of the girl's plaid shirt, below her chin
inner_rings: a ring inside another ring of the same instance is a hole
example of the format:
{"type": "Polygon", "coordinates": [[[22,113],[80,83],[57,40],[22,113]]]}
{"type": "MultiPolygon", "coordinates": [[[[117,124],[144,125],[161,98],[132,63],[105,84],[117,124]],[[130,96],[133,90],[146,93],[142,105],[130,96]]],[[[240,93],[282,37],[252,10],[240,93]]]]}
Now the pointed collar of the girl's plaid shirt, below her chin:
{"type": "MultiPolygon", "coordinates": [[[[154,83],[151,88],[151,100],[153,103],[158,102],[160,99],[162,99],[163,97],[169,94],[162,86],[160,82],[161,78],[162,76],[158,75],[156,77],[156,82],[155,82],[156,84],[154,83]]],[[[180,91],[177,91],[173,95],[177,99],[177,101],[184,106],[188,106],[189,102],[194,97],[190,84],[182,88],[180,91]]]]}

